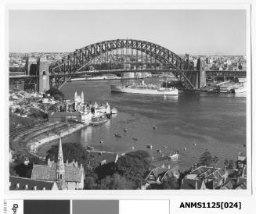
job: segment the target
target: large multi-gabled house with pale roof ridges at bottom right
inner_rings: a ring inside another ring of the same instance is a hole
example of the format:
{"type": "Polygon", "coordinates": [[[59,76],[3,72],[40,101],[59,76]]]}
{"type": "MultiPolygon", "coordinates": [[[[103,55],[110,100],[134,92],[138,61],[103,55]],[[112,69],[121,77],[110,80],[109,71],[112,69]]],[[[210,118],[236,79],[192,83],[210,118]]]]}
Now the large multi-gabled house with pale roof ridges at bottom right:
{"type": "MultiPolygon", "coordinates": [[[[196,169],[193,169],[188,175],[186,175],[186,177],[182,179],[182,184],[189,183],[186,184],[186,187],[196,187],[195,182],[197,181],[198,188],[198,184],[204,181],[205,187],[207,189],[217,189],[225,184],[227,178],[228,171],[226,168],[200,166],[196,169]]],[[[183,188],[183,185],[181,188],[183,188]]],[[[202,188],[204,188],[204,186],[202,188]]]]}

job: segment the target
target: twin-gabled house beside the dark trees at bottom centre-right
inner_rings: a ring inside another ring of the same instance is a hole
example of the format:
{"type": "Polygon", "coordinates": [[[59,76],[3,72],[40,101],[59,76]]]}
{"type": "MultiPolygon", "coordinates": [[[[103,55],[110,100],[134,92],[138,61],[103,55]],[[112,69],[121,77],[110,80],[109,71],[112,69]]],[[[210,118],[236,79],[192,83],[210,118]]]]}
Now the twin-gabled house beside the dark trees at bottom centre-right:
{"type": "Polygon", "coordinates": [[[179,176],[180,169],[178,166],[172,169],[160,166],[150,170],[150,173],[146,176],[146,183],[161,184],[164,180],[168,180],[168,178],[175,177],[178,179],[179,176]]]}

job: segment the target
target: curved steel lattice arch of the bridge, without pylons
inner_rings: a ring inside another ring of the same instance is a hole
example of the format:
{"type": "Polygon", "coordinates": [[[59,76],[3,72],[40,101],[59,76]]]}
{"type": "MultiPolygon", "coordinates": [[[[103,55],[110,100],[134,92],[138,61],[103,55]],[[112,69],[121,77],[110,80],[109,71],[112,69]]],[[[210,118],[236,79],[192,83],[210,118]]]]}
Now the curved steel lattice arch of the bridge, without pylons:
{"type": "Polygon", "coordinates": [[[196,87],[191,83],[185,72],[186,70],[189,70],[189,63],[186,62],[185,59],[182,59],[174,52],[171,52],[160,45],[149,41],[135,39],[101,41],[75,50],[73,53],[70,53],[63,59],[60,59],[49,66],[51,86],[59,87],[69,78],[64,74],[79,73],[79,71],[82,70],[88,62],[91,62],[92,59],[95,59],[106,52],[121,48],[130,48],[150,55],[160,62],[166,69],[171,70],[175,77],[182,82],[184,87],[196,87]]]}

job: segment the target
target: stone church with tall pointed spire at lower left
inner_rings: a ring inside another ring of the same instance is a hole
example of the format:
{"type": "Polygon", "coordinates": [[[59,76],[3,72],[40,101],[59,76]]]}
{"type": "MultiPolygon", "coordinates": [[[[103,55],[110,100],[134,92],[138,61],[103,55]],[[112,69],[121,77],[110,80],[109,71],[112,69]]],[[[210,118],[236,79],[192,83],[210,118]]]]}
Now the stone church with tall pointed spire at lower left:
{"type": "Polygon", "coordinates": [[[58,161],[48,159],[47,165],[33,165],[31,179],[56,181],[59,190],[80,190],[84,188],[84,167],[78,166],[78,162],[64,164],[61,138],[59,139],[58,161]]]}

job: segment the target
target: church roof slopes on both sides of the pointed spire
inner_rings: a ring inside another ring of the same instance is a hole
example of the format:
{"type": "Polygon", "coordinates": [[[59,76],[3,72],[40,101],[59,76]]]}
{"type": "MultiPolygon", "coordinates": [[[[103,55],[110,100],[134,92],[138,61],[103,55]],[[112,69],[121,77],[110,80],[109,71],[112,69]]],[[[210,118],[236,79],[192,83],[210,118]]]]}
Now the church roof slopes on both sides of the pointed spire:
{"type": "MultiPolygon", "coordinates": [[[[56,180],[56,162],[51,165],[34,164],[31,178],[36,180],[56,180]]],[[[84,173],[83,168],[65,166],[65,180],[67,182],[81,182],[81,176],[84,173]]]]}

